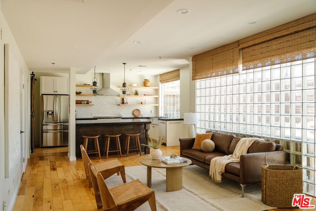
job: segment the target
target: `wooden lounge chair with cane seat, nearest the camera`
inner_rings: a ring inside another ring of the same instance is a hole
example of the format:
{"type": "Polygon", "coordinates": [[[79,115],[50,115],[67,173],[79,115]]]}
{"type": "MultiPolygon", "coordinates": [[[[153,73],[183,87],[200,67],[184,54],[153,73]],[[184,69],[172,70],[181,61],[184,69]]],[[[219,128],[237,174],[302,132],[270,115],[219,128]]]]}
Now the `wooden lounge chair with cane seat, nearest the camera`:
{"type": "Polygon", "coordinates": [[[155,191],[138,179],[109,189],[92,164],[89,164],[89,169],[98,208],[103,206],[106,211],[132,211],[148,201],[151,210],[156,211],[155,191]]]}

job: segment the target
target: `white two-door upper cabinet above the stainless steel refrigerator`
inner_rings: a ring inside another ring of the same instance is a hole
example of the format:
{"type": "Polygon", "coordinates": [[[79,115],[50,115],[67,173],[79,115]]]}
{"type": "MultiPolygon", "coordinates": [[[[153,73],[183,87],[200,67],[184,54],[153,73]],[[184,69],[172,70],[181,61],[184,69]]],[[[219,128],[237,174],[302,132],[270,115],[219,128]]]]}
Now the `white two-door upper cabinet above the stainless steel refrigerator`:
{"type": "Polygon", "coordinates": [[[67,77],[41,76],[42,94],[69,94],[67,77]]]}

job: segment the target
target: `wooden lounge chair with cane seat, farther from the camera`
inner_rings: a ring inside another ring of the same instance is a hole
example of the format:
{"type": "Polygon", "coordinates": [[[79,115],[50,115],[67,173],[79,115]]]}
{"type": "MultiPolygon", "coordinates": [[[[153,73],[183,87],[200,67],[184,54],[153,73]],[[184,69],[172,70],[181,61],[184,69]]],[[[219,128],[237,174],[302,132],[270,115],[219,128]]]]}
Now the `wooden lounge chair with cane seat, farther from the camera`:
{"type": "MultiPolygon", "coordinates": [[[[86,177],[89,183],[89,188],[92,188],[92,182],[91,182],[91,176],[90,176],[90,170],[89,170],[89,163],[91,163],[91,160],[89,159],[88,154],[82,145],[80,145],[80,149],[81,149],[84,170],[86,172],[86,177]]],[[[125,168],[124,168],[124,165],[121,164],[118,159],[104,161],[101,163],[94,164],[93,166],[98,172],[101,173],[104,179],[111,177],[115,173],[117,173],[118,175],[119,173],[121,173],[122,180],[124,183],[126,183],[125,168]]]]}

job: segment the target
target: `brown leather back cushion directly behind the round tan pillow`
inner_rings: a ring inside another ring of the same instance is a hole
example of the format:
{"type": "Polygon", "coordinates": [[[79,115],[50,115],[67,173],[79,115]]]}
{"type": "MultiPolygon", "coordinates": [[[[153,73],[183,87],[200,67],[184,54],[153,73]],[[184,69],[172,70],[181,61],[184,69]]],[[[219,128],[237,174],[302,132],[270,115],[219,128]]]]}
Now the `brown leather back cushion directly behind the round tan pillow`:
{"type": "Polygon", "coordinates": [[[215,143],[214,151],[228,154],[230,143],[235,135],[213,132],[211,140],[215,143]]]}

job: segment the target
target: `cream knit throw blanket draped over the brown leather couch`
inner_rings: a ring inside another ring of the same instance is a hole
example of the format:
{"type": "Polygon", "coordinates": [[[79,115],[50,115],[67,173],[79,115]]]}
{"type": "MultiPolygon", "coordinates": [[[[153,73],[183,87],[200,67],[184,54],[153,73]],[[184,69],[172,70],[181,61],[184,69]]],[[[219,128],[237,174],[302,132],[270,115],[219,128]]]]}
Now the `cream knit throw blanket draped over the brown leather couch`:
{"type": "Polygon", "coordinates": [[[222,173],[225,172],[226,164],[239,162],[240,155],[247,154],[248,148],[256,140],[264,141],[261,138],[241,138],[233,154],[213,158],[210,163],[210,177],[212,177],[215,182],[222,182],[222,173]]]}

